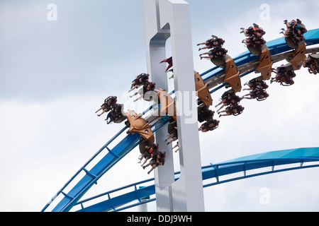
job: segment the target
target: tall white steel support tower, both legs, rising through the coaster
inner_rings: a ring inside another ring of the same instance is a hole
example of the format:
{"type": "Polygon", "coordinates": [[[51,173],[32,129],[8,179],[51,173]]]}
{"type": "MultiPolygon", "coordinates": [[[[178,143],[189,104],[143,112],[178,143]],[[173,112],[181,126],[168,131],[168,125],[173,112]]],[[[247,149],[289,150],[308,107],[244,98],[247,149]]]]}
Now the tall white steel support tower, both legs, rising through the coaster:
{"type": "Polygon", "coordinates": [[[172,145],[167,146],[167,127],[156,133],[165,165],[155,170],[157,211],[204,211],[201,153],[199,148],[194,61],[189,4],[184,0],[143,0],[147,72],[157,88],[166,89],[165,44],[172,38],[174,89],[177,106],[181,175],[174,182],[172,145]],[[191,112],[189,110],[191,109],[191,112]]]}

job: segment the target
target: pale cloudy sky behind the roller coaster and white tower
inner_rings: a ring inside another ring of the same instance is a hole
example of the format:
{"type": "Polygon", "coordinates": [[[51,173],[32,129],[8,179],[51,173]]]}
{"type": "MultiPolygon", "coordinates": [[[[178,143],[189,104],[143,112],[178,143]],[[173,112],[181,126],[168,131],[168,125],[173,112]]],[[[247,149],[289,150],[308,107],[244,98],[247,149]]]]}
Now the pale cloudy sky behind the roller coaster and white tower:
{"type": "MultiPolygon", "coordinates": [[[[285,19],[299,18],[308,30],[319,28],[319,2],[313,0],[188,2],[199,73],[214,66],[199,59],[196,46],[211,35],[222,37],[228,54],[236,57],[247,50],[240,28],[252,23],[264,28],[267,41],[282,37],[285,19]],[[260,17],[264,3],[270,7],[269,20],[260,17]]],[[[123,128],[107,125],[94,112],[109,95],[125,102],[125,109],[134,107],[127,90],[142,72],[141,0],[0,1],[0,211],[40,211],[123,128]],[[49,4],[57,6],[56,21],[47,20],[49,4]]],[[[240,116],[222,117],[216,131],[200,133],[202,165],[318,147],[319,77],[306,69],[296,74],[291,87],[269,84],[266,101],[242,100],[240,116]]],[[[242,83],[257,76],[252,73],[242,83]]],[[[213,105],[224,91],[212,95],[213,105]]],[[[133,150],[87,195],[152,177],[137,164],[138,153],[133,150]]],[[[318,187],[318,168],[221,184],[204,189],[206,211],[318,211],[318,187]],[[270,192],[267,205],[259,201],[263,188],[270,192]]],[[[149,208],[155,210],[155,203],[149,208]]]]}

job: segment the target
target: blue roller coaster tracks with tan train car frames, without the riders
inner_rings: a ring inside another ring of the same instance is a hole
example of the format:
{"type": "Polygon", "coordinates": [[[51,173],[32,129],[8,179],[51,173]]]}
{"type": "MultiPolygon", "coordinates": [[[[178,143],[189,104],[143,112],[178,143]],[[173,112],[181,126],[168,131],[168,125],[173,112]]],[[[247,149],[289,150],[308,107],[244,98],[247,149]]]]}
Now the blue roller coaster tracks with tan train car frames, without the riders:
{"type": "MultiPolygon", "coordinates": [[[[261,73],[261,76],[257,77],[260,81],[269,80],[272,74],[272,64],[276,62],[286,60],[288,62],[286,66],[293,71],[300,69],[303,61],[306,59],[306,54],[319,52],[319,47],[316,46],[316,44],[319,44],[319,29],[308,30],[304,34],[304,38],[305,40],[297,46],[291,46],[291,42],[289,42],[287,38],[280,37],[276,40],[266,42],[262,49],[257,52],[254,52],[256,49],[248,48],[249,50],[247,52],[243,52],[233,59],[226,55],[222,64],[212,60],[216,66],[208,71],[203,73],[197,73],[195,71],[194,78],[198,95],[198,109],[212,105],[211,94],[221,88],[230,88],[226,93],[237,93],[240,91],[242,88],[240,78],[252,72],[261,73]]],[[[157,95],[159,102],[163,100],[163,98],[166,98],[164,101],[166,105],[158,105],[158,103],[155,103],[155,105],[145,109],[141,114],[136,114],[133,111],[127,112],[125,114],[127,122],[125,122],[123,129],[118,131],[113,138],[103,145],[100,150],[62,186],[62,189],[51,198],[42,211],[47,211],[50,208],[52,212],[67,212],[71,211],[75,206],[81,206],[80,210],[78,210],[79,212],[121,211],[125,208],[155,201],[156,198],[143,199],[146,196],[155,194],[155,184],[152,184],[154,183],[154,179],[147,179],[142,182],[130,184],[85,200],[82,200],[82,196],[84,196],[86,191],[89,191],[109,169],[120,162],[125,155],[141,143],[154,139],[154,134],[157,130],[162,128],[162,126],[167,126],[169,120],[172,119],[172,117],[176,117],[176,115],[174,115],[175,112],[171,112],[172,114],[169,115],[169,111],[167,111],[169,105],[174,106],[174,98],[171,97],[173,93],[174,91],[167,94],[164,90],[158,90],[157,95]],[[162,114],[155,114],[158,112],[162,114]],[[125,133],[127,134],[121,141],[116,141],[116,138],[125,135],[125,133]],[[111,146],[113,146],[113,148],[109,148],[111,146]],[[107,150],[107,153],[105,154],[103,150],[107,150]],[[89,168],[90,163],[97,159],[100,160],[93,167],[89,168]],[[82,175],[83,172],[85,173],[84,176],[82,175]],[[74,182],[77,183],[73,185],[74,182]],[[113,196],[113,194],[121,192],[122,190],[123,194],[113,196]],[[101,198],[103,201],[101,201],[101,198]],[[91,204],[92,202],[94,204],[91,204]]],[[[287,170],[319,167],[318,164],[315,164],[315,162],[318,161],[319,148],[277,150],[240,157],[202,167],[203,182],[207,182],[203,184],[203,187],[287,170]],[[314,164],[311,164],[313,162],[314,164]],[[298,164],[298,166],[291,167],[291,164],[298,164]],[[281,166],[281,168],[277,169],[278,166],[281,166]],[[252,169],[261,169],[264,167],[271,167],[271,169],[265,172],[250,173],[252,169]],[[230,179],[223,179],[223,176],[233,175],[237,172],[241,172],[242,175],[230,179]],[[208,182],[211,181],[211,179],[215,181],[213,183],[208,182]]],[[[175,180],[179,179],[179,174],[180,172],[175,173],[175,180]]]]}

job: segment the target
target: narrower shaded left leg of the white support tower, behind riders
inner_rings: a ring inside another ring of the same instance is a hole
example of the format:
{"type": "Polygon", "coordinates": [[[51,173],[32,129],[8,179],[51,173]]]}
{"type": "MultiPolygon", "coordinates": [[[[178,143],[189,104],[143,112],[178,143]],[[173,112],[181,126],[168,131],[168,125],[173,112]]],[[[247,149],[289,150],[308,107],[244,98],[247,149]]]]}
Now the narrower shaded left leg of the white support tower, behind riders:
{"type": "MultiPolygon", "coordinates": [[[[144,20],[145,20],[145,42],[147,73],[150,74],[152,82],[157,88],[168,90],[166,65],[159,64],[166,58],[165,44],[169,38],[169,30],[159,29],[159,7],[158,0],[144,0],[144,20]]],[[[164,167],[155,169],[155,190],[157,211],[173,211],[172,198],[169,187],[174,183],[174,162],[172,145],[167,145],[164,140],[167,138],[167,126],[163,126],[155,133],[156,142],[161,151],[166,152],[164,167]]]]}

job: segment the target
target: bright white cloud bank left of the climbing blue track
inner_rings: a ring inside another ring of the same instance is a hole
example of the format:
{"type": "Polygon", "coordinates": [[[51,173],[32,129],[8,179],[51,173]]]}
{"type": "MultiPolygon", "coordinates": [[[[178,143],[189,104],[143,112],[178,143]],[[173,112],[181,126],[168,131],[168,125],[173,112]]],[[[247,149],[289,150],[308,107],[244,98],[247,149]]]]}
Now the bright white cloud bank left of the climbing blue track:
{"type": "Polygon", "coordinates": [[[40,211],[51,198],[48,193],[56,193],[120,130],[96,117],[100,101],[69,96],[42,103],[0,102],[0,200],[6,203],[1,210],[40,211]]]}

